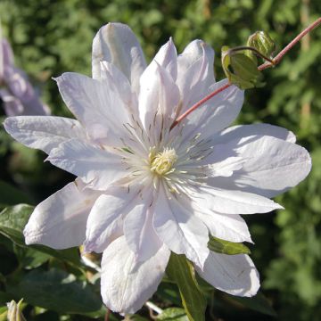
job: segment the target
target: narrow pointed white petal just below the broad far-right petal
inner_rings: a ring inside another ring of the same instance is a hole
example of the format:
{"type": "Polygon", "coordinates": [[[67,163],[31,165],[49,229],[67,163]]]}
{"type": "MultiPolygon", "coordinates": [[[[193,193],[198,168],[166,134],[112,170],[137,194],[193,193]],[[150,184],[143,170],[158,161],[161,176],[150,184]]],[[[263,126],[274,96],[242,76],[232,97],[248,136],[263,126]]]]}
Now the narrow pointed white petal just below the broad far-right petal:
{"type": "MultiPolygon", "coordinates": [[[[213,178],[215,179],[215,178],[213,178]]],[[[209,209],[221,214],[267,213],[283,209],[266,197],[241,191],[228,191],[218,187],[200,186],[199,190],[189,193],[192,206],[196,209],[209,209]]]]}

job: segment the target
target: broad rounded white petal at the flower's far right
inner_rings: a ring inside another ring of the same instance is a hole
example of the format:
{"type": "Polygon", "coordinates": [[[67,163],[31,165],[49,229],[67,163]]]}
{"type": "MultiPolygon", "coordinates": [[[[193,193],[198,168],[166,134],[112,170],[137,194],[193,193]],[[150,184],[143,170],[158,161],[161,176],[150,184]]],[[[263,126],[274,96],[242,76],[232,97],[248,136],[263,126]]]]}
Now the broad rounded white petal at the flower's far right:
{"type": "Polygon", "coordinates": [[[209,184],[274,197],[298,185],[311,169],[309,152],[271,136],[249,136],[226,143],[244,160],[232,177],[215,177],[209,184]],[[218,178],[218,179],[216,179],[218,178]]]}

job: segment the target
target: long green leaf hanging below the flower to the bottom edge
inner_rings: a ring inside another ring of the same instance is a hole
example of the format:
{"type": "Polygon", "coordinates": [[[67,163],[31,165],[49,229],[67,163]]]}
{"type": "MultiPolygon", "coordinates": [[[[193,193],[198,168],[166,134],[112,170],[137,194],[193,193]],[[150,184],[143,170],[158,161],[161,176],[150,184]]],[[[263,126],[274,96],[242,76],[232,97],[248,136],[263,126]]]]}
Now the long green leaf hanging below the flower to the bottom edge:
{"type": "Polygon", "coordinates": [[[189,320],[205,320],[206,300],[197,284],[192,263],[184,255],[172,252],[166,271],[168,276],[178,285],[189,320]]]}

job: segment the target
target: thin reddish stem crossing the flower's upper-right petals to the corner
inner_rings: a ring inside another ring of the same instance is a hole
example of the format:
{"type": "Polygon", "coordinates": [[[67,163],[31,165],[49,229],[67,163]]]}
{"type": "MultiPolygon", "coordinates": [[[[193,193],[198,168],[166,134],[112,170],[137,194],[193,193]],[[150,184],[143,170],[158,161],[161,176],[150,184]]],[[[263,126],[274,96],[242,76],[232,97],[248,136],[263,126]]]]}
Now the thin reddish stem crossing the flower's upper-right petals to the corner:
{"type": "MultiPolygon", "coordinates": [[[[310,31],[312,31],[313,29],[316,29],[319,25],[321,24],[321,18],[318,18],[316,21],[314,21],[313,23],[311,23],[309,25],[309,27],[307,27],[306,29],[304,29],[303,31],[300,32],[300,34],[295,37],[291,43],[289,45],[286,45],[284,47],[284,49],[282,49],[280,51],[280,53],[276,54],[276,57],[273,59],[273,63],[271,62],[265,62],[263,64],[261,64],[258,69],[259,70],[266,70],[272,66],[276,66],[276,64],[278,64],[279,62],[281,62],[281,60],[283,59],[285,53],[287,53],[289,50],[292,49],[292,47],[294,45],[296,45],[300,39],[302,37],[304,37],[305,35],[307,35],[310,31]]],[[[192,111],[194,111],[195,109],[197,109],[198,107],[200,107],[203,103],[206,103],[208,100],[210,100],[210,98],[214,97],[215,95],[218,95],[219,93],[221,93],[222,91],[226,90],[229,86],[232,86],[232,84],[228,83],[224,86],[219,87],[217,90],[213,91],[212,93],[210,93],[210,95],[205,96],[204,98],[202,98],[202,100],[200,100],[198,103],[195,103],[191,108],[189,108],[187,111],[185,111],[182,115],[180,115],[179,117],[177,117],[177,119],[173,122],[172,126],[170,127],[170,129],[173,129],[177,126],[177,124],[182,121],[183,119],[185,119],[185,117],[187,117],[192,111]]]]}

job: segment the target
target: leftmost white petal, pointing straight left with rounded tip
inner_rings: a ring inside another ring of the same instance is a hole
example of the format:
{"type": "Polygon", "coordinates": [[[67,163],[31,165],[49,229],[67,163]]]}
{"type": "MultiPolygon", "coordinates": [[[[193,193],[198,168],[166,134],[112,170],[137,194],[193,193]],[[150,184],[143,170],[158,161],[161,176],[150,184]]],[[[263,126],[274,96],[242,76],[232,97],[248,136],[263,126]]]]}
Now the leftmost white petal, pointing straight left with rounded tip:
{"type": "Polygon", "coordinates": [[[5,130],[17,141],[49,153],[71,138],[86,141],[78,120],[53,116],[17,116],[4,120],[5,130]]]}

